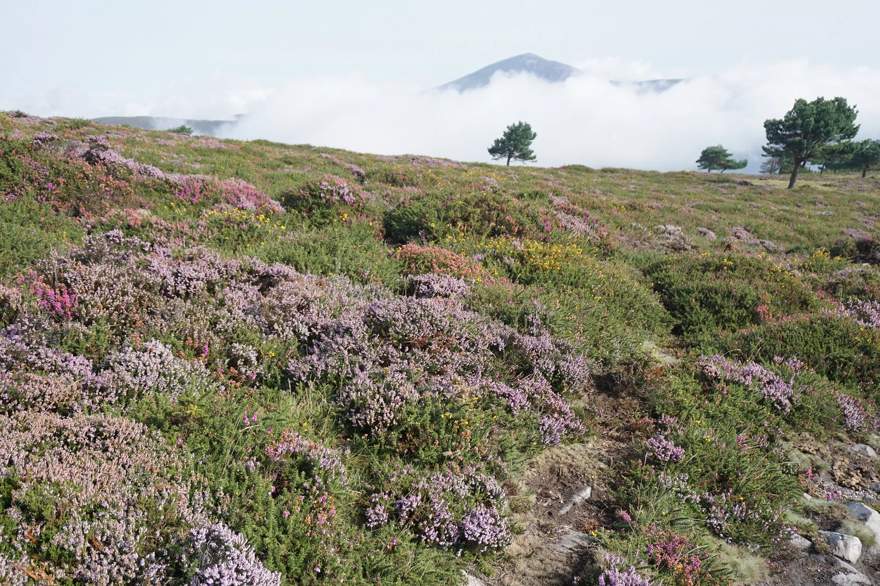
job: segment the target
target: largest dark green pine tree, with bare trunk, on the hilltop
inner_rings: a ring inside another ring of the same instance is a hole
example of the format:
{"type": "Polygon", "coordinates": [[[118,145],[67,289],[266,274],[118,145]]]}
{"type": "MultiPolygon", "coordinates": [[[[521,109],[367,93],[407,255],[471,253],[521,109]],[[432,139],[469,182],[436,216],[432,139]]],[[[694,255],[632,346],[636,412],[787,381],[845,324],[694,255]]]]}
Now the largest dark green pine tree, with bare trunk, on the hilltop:
{"type": "Polygon", "coordinates": [[[797,171],[821,154],[821,149],[848,141],[859,132],[855,124],[857,114],[855,106],[847,105],[846,98],[816,98],[812,102],[801,98],[785,118],[764,121],[766,156],[790,156],[794,160],[788,189],[795,186],[797,171]]]}

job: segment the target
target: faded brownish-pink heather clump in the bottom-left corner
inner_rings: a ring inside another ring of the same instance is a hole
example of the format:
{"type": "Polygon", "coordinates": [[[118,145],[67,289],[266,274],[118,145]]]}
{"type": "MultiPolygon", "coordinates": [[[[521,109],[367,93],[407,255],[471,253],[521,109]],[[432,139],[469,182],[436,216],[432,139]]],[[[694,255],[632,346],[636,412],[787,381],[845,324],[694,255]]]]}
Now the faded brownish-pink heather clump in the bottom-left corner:
{"type": "Polygon", "coordinates": [[[162,543],[153,539],[150,503],[166,511],[165,531],[182,521],[177,507],[188,493],[182,462],[140,423],[106,415],[0,416],[0,454],[10,496],[4,514],[19,527],[0,537],[4,549],[54,547],[63,554],[45,569],[56,579],[134,580],[143,573],[139,552],[155,552],[162,543]],[[47,507],[58,511],[52,525],[44,520],[47,507]],[[50,530],[45,538],[44,530],[50,530]]]}

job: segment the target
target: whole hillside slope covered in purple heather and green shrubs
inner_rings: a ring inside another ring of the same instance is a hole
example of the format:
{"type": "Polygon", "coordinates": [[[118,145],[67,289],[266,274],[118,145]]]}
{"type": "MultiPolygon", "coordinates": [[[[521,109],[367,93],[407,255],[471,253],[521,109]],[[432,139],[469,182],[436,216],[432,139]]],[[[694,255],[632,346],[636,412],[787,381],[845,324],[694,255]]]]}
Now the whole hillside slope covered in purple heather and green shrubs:
{"type": "Polygon", "coordinates": [[[784,184],[0,113],[0,576],[876,579],[880,182],[784,184]]]}

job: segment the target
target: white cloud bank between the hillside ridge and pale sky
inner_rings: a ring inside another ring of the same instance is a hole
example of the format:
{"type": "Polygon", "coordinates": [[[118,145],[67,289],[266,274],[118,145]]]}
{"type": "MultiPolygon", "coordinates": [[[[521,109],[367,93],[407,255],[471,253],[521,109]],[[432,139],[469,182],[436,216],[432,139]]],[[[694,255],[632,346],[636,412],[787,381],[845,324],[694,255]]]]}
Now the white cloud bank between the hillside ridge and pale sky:
{"type": "Polygon", "coordinates": [[[53,90],[26,98],[0,91],[0,109],[189,119],[249,112],[225,135],[463,161],[489,161],[486,148],[504,127],[526,120],[538,133],[535,164],[649,170],[694,169],[702,148],[722,143],[737,158],[747,157],[748,170],[755,171],[765,142],[764,120],[780,118],[796,98],[847,98],[859,108],[859,138],[880,137],[880,69],[806,60],[744,64],[652,93],[607,80],[685,75],[661,75],[642,61],[578,65],[586,73],[564,83],[496,75],[487,87],[462,94],[355,74],[296,78],[275,88],[215,78],[128,94],[53,90]]]}

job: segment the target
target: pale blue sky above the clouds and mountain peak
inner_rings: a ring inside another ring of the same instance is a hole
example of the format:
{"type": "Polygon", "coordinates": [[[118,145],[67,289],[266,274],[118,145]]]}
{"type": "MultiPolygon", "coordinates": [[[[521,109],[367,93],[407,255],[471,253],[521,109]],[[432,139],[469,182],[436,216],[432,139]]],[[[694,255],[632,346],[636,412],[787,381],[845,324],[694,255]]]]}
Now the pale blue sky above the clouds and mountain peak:
{"type": "Polygon", "coordinates": [[[526,52],[572,64],[649,61],[686,75],[799,57],[880,65],[876,0],[2,0],[0,14],[0,45],[14,55],[3,83],[20,90],[76,80],[120,91],[206,72],[276,83],[351,70],[431,86],[526,52]]]}

